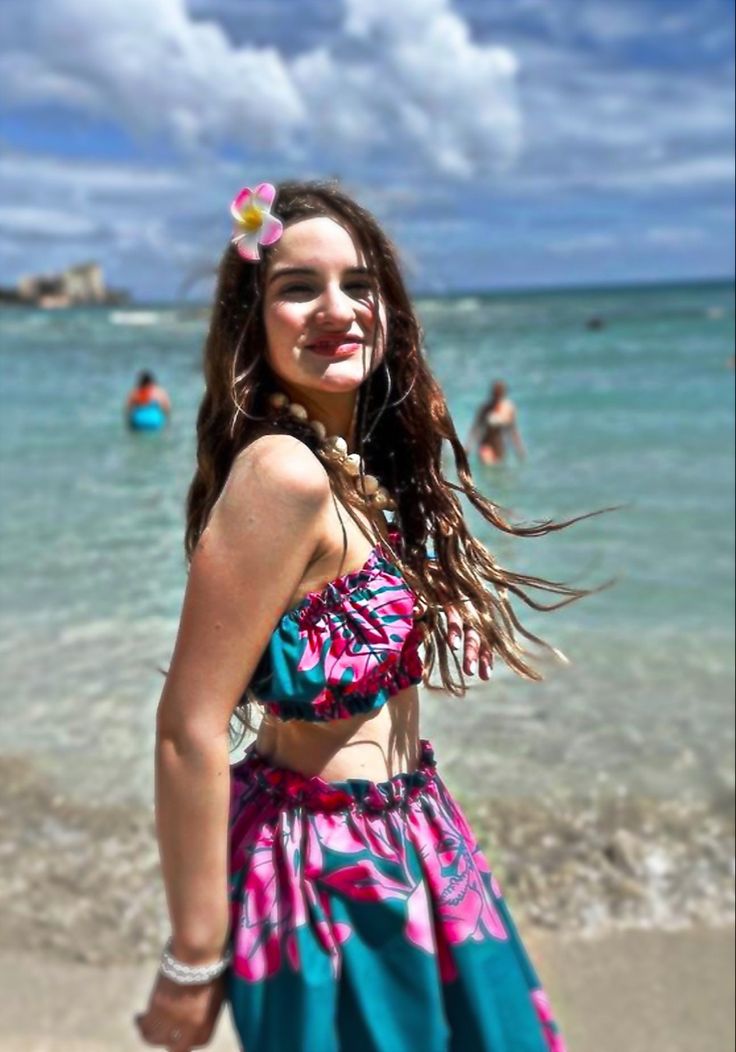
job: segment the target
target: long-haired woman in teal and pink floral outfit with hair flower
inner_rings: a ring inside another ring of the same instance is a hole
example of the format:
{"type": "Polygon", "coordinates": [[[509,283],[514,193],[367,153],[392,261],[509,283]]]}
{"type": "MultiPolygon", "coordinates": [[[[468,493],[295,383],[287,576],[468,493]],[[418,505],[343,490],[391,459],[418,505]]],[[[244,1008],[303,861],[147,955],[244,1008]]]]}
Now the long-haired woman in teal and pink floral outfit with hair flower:
{"type": "Polygon", "coordinates": [[[247,1052],[564,1052],[417,685],[539,679],[510,595],[586,594],[502,567],[455,491],[515,535],[575,520],[511,524],[475,488],[368,211],[295,182],[231,213],[157,714],[171,937],[139,1032],[189,1052],[227,1002],[247,1052]],[[255,739],[230,766],[233,719],[255,739]]]}

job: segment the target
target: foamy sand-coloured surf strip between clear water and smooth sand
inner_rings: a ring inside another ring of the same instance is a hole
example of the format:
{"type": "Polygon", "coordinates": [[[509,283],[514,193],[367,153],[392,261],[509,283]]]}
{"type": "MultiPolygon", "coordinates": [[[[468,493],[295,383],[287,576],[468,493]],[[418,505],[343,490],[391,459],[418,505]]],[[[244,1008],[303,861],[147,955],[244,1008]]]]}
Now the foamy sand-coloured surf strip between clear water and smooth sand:
{"type": "MultiPolygon", "coordinates": [[[[149,808],[82,804],[0,757],[0,953],[101,968],[155,957],[167,933],[149,808]],[[38,904],[43,903],[43,909],[38,904]]],[[[733,792],[692,805],[458,796],[514,919],[606,937],[734,923],[733,792]]]]}

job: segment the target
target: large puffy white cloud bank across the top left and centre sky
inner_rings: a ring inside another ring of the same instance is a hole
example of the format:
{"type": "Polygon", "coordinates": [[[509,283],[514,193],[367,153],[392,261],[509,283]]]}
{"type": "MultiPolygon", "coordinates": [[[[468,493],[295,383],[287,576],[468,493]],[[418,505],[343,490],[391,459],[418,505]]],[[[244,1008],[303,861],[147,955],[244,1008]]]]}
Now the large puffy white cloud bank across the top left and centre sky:
{"type": "Polygon", "coordinates": [[[233,46],[183,0],[29,0],[19,38],[6,20],[4,105],[81,109],[189,155],[319,156],[348,171],[376,153],[464,176],[513,159],[520,117],[508,49],[475,43],[449,0],[344,2],[336,40],[287,57],[233,46]]]}

